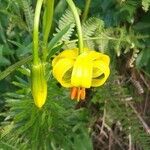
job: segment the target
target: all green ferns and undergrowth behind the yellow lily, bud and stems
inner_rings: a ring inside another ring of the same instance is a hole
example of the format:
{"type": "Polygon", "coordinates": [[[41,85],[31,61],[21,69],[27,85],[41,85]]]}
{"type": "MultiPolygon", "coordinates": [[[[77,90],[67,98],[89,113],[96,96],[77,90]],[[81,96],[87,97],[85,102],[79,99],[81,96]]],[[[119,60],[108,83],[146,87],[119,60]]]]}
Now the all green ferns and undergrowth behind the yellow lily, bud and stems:
{"type": "Polygon", "coordinates": [[[93,0],[86,19],[86,1],[74,2],[84,44],[110,56],[111,75],[78,103],[53,78],[54,55],[77,46],[73,15],[56,0],[48,98],[39,109],[30,88],[36,1],[0,0],[0,149],[149,150],[150,0],[93,0]]]}

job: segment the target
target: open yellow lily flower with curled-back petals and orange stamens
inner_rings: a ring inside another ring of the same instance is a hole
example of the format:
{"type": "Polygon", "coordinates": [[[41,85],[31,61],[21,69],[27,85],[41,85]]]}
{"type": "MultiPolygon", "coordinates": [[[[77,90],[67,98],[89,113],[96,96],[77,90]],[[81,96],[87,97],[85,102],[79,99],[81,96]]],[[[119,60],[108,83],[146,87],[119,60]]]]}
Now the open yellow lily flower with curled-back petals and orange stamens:
{"type": "Polygon", "coordinates": [[[84,48],[61,52],[52,61],[53,75],[66,88],[72,88],[71,99],[84,100],[85,88],[98,87],[107,80],[110,69],[109,56],[84,48]]]}

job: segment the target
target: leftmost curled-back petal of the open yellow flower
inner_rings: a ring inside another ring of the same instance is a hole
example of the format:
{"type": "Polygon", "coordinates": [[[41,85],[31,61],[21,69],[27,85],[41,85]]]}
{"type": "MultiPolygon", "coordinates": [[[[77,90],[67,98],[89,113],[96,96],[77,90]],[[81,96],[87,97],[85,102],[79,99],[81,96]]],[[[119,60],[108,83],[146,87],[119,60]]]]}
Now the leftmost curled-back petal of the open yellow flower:
{"type": "Polygon", "coordinates": [[[64,87],[72,87],[71,85],[71,73],[74,64],[74,60],[69,58],[62,58],[57,61],[53,66],[53,75],[58,82],[64,87]]]}

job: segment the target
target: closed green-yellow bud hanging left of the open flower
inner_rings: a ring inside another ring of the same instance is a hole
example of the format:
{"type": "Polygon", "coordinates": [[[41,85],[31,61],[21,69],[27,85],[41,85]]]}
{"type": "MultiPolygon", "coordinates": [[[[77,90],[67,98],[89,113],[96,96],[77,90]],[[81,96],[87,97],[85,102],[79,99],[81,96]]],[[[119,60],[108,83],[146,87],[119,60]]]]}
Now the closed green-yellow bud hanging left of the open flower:
{"type": "Polygon", "coordinates": [[[47,97],[47,82],[44,76],[43,64],[32,65],[31,80],[34,103],[41,108],[47,97]]]}

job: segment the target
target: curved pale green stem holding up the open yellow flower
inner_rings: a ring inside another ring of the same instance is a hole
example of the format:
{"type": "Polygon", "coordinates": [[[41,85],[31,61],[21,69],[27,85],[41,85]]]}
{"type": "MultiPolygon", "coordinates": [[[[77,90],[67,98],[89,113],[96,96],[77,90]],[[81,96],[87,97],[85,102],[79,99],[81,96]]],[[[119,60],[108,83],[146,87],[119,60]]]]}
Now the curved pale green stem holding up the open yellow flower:
{"type": "Polygon", "coordinates": [[[71,8],[71,11],[73,13],[73,16],[74,16],[74,19],[76,22],[78,39],[79,39],[79,53],[82,53],[82,52],[84,52],[84,49],[83,49],[82,27],[81,27],[79,14],[78,14],[77,8],[76,8],[75,4],[73,3],[73,1],[72,0],[66,0],[66,1],[71,8]]]}

